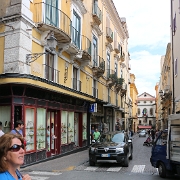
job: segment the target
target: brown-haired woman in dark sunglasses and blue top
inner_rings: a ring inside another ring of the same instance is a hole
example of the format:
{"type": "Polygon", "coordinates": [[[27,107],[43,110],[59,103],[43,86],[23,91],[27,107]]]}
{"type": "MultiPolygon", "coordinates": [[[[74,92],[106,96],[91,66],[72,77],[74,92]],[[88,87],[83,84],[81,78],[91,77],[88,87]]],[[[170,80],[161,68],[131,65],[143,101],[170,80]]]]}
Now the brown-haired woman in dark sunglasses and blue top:
{"type": "Polygon", "coordinates": [[[0,179],[31,180],[31,177],[21,175],[19,166],[24,163],[24,140],[16,134],[4,134],[0,137],[0,179]]]}

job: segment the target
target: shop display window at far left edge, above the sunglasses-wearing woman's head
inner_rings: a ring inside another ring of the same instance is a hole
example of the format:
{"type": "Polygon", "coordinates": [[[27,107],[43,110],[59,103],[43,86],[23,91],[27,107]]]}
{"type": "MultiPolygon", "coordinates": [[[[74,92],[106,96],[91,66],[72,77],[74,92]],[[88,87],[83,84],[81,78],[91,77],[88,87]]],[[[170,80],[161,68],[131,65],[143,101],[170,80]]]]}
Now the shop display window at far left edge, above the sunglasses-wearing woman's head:
{"type": "Polygon", "coordinates": [[[11,107],[0,106],[0,121],[2,122],[2,131],[8,133],[11,130],[11,107]]]}

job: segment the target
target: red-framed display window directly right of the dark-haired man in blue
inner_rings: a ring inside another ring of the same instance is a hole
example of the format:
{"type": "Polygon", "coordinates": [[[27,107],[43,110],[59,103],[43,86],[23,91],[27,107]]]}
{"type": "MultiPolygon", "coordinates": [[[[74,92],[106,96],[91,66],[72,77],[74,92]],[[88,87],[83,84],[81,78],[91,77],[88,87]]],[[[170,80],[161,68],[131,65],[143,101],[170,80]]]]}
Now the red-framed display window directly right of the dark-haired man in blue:
{"type": "Polygon", "coordinates": [[[25,108],[25,137],[26,151],[35,150],[35,110],[33,108],[25,108]]]}

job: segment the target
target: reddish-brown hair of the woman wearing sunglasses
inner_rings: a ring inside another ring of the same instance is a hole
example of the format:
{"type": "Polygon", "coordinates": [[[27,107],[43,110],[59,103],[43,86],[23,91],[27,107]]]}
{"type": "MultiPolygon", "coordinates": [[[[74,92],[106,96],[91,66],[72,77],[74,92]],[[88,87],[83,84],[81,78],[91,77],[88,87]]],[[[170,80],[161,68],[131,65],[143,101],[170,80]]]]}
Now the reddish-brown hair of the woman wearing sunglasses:
{"type": "Polygon", "coordinates": [[[7,171],[8,166],[5,157],[11,147],[12,139],[17,138],[24,143],[22,136],[17,134],[7,133],[0,137],[0,172],[7,171]]]}

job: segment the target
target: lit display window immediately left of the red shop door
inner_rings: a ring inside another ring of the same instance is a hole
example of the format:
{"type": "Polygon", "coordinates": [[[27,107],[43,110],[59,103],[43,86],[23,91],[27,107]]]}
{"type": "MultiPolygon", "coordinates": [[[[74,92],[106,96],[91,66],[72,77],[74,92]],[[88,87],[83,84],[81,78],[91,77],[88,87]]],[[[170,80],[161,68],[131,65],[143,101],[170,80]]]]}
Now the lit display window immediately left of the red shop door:
{"type": "Polygon", "coordinates": [[[37,134],[36,134],[36,148],[37,150],[46,148],[46,110],[37,108],[37,134]]]}

